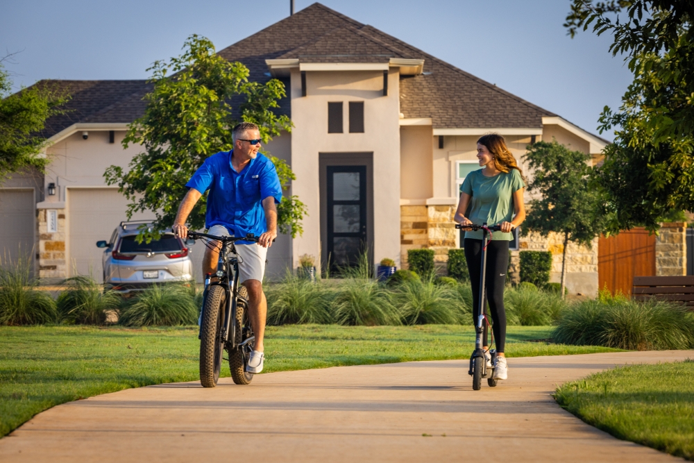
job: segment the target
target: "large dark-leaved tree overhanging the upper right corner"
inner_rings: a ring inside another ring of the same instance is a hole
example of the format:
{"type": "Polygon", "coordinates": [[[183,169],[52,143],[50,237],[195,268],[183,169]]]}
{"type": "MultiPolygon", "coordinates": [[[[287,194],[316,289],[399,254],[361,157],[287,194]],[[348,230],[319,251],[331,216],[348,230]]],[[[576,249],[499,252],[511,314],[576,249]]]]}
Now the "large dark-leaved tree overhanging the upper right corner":
{"type": "Polygon", "coordinates": [[[601,133],[616,135],[594,173],[608,232],[657,230],[672,210],[694,210],[693,18],[691,0],[573,0],[568,33],[591,24],[611,33],[610,51],[634,74],[620,108],[606,106],[599,119],[601,133]]]}

